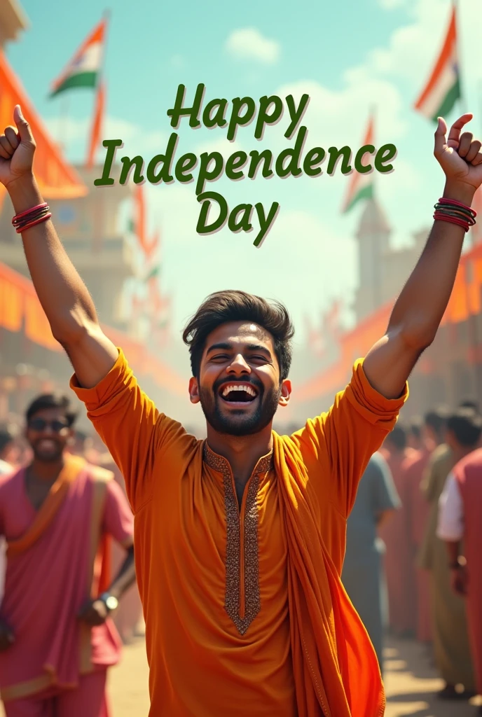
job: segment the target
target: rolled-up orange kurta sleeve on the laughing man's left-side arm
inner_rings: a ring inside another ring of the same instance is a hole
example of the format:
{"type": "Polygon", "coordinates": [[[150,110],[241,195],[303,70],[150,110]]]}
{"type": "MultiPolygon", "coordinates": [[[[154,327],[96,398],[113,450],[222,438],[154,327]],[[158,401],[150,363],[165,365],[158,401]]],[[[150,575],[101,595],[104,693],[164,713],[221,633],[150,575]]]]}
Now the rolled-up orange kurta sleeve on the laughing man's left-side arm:
{"type": "Polygon", "coordinates": [[[74,375],[70,387],[85,403],[88,418],[126,481],[129,502],[137,513],[153,494],[154,460],[183,432],[181,425],[159,413],[138,386],[120,349],[113,368],[97,386],[84,389],[74,375]]]}

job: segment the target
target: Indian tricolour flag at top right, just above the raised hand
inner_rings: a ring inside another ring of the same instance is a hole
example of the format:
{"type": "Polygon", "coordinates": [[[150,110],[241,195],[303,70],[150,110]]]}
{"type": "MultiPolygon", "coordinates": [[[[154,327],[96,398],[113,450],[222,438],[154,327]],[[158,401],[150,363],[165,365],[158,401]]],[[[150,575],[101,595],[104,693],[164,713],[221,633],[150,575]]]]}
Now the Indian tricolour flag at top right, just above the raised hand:
{"type": "Polygon", "coordinates": [[[460,77],[457,56],[457,19],[452,10],[447,37],[430,79],[415,103],[415,109],[433,122],[445,117],[460,98],[460,77]]]}

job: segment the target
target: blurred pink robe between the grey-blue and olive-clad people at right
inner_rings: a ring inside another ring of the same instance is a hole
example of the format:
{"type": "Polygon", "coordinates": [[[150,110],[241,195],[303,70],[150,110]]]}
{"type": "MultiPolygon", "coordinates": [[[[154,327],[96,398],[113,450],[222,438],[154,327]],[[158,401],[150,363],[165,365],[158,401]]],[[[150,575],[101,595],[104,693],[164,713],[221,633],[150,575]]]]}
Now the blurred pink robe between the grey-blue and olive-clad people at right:
{"type": "Polygon", "coordinates": [[[385,543],[385,574],[387,578],[389,625],[396,635],[416,631],[415,566],[412,554],[412,528],[410,523],[410,490],[408,490],[406,467],[418,452],[407,449],[402,453],[383,455],[392,472],[395,488],[400,495],[402,508],[395,511],[380,529],[385,543]]]}

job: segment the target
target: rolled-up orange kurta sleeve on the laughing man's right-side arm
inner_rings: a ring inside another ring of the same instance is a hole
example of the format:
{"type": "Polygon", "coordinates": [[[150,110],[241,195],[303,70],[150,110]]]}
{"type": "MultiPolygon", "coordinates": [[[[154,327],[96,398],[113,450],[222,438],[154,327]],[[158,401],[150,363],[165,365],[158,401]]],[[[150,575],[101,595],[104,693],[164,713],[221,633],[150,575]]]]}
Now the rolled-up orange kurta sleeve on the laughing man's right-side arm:
{"type": "Polygon", "coordinates": [[[344,518],[353,507],[370,457],[394,427],[407,396],[408,386],[397,399],[379,394],[369,384],[363,359],[359,359],[349,385],[336,394],[329,412],[309,419],[293,434],[318,499],[330,500],[344,518]]]}

